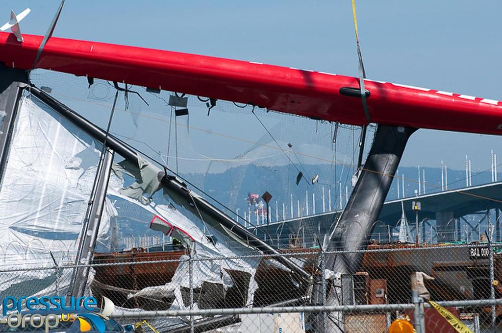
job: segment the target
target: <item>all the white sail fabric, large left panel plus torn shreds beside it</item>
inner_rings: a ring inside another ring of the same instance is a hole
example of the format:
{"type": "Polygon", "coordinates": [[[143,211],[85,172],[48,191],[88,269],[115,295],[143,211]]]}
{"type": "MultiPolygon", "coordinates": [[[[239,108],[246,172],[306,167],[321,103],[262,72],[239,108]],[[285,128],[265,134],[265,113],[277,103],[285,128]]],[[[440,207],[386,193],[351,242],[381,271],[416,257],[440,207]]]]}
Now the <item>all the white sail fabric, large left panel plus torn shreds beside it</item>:
{"type": "MultiPolygon", "coordinates": [[[[99,143],[92,137],[35,97],[22,97],[0,188],[0,231],[3,235],[0,248],[5,253],[4,257],[9,258],[4,268],[9,265],[19,268],[20,265],[34,263],[37,267],[53,266],[49,251],[56,259],[66,260],[70,259],[68,253],[76,252],[99,159],[100,151],[96,146],[99,143]]],[[[244,250],[248,253],[249,249],[242,245],[230,248],[223,239],[214,244],[207,237],[210,227],[204,226],[203,232],[197,223],[173,206],[150,202],[148,197],[158,186],[151,176],[157,174],[158,168],[141,158],[139,160],[136,175],[131,174],[131,168],[126,170],[119,164],[114,165],[115,173],[110,177],[108,194],[169,221],[175,227],[175,236],[190,235],[194,240],[190,243],[195,244],[193,259],[197,260],[193,265],[194,287],[201,286],[204,281],[230,287],[233,282],[225,269],[250,273],[247,302],[252,304],[257,289],[254,275],[259,260],[229,259],[242,256],[244,250]],[[123,177],[117,171],[133,177],[139,175],[140,182],[124,187],[123,177]],[[183,232],[177,232],[180,230],[183,232]],[[214,258],[226,259],[211,260],[214,258]]],[[[169,201],[168,196],[164,197],[169,201]]],[[[110,217],[114,216],[117,216],[117,211],[106,199],[98,235],[98,242],[105,246],[111,238],[110,217]]],[[[209,234],[215,233],[214,230],[209,231],[209,234]]],[[[66,271],[68,275],[70,270],[66,271]]],[[[52,270],[12,274],[9,281],[2,281],[0,291],[16,283],[43,279],[51,274],[52,270]]],[[[62,290],[67,287],[68,280],[60,279],[45,286],[43,291],[62,290]]],[[[184,308],[180,288],[189,287],[188,283],[188,263],[181,262],[171,283],[152,286],[140,293],[149,296],[174,293],[176,301],[173,307],[184,308]]],[[[41,291],[32,290],[32,293],[37,292],[41,291]]]]}

